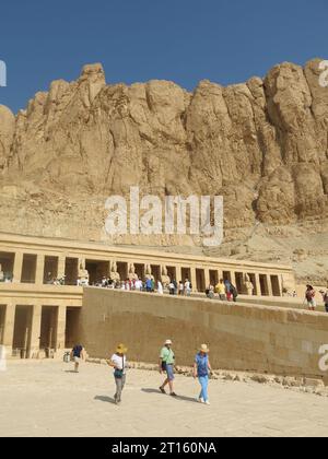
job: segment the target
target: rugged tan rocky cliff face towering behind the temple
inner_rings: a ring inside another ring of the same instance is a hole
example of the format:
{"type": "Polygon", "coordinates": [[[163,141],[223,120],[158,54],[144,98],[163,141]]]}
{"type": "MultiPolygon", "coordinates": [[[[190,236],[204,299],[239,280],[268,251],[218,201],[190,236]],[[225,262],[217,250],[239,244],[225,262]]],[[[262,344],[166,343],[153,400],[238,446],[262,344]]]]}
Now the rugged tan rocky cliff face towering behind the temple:
{"type": "MultiPolygon", "coordinates": [[[[0,106],[0,231],[104,240],[105,199],[130,186],[223,195],[216,255],[308,261],[300,276],[325,276],[328,89],[318,64],[282,63],[227,87],[202,81],[194,93],[166,81],[106,85],[101,64],[85,66],[16,117],[0,106]]],[[[114,242],[201,250],[187,236],[114,242]]]]}

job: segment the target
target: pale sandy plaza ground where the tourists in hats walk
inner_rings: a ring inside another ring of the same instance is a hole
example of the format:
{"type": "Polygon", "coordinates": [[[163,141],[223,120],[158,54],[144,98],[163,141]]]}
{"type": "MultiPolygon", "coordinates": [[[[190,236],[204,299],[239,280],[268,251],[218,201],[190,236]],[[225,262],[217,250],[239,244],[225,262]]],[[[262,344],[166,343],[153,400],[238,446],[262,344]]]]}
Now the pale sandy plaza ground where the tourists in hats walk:
{"type": "Polygon", "coordinates": [[[0,373],[0,436],[327,436],[328,398],[256,382],[213,380],[211,405],[198,384],[176,378],[177,399],[156,389],[155,372],[129,370],[120,407],[110,368],[10,362],[0,373]]]}

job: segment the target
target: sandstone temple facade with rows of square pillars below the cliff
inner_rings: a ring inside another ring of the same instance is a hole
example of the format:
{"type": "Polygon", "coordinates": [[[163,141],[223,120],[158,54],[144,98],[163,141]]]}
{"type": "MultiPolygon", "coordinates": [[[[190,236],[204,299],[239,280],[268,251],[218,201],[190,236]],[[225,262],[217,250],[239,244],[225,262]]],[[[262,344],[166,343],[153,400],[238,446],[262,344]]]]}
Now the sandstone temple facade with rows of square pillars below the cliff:
{"type": "Polygon", "coordinates": [[[83,281],[93,285],[103,276],[189,279],[195,294],[224,279],[241,295],[277,299],[295,289],[289,266],[0,233],[0,344],[8,355],[51,356],[71,348],[79,340],[83,281]]]}

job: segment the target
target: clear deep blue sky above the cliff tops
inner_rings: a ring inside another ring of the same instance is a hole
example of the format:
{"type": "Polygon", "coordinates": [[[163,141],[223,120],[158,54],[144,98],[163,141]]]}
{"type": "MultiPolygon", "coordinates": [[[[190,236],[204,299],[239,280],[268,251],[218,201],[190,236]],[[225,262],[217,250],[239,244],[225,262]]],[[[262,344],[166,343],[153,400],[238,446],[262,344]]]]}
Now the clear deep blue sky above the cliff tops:
{"type": "Polygon", "coordinates": [[[242,82],[285,60],[327,59],[327,0],[3,0],[0,104],[16,111],[91,62],[107,83],[242,82]]]}

